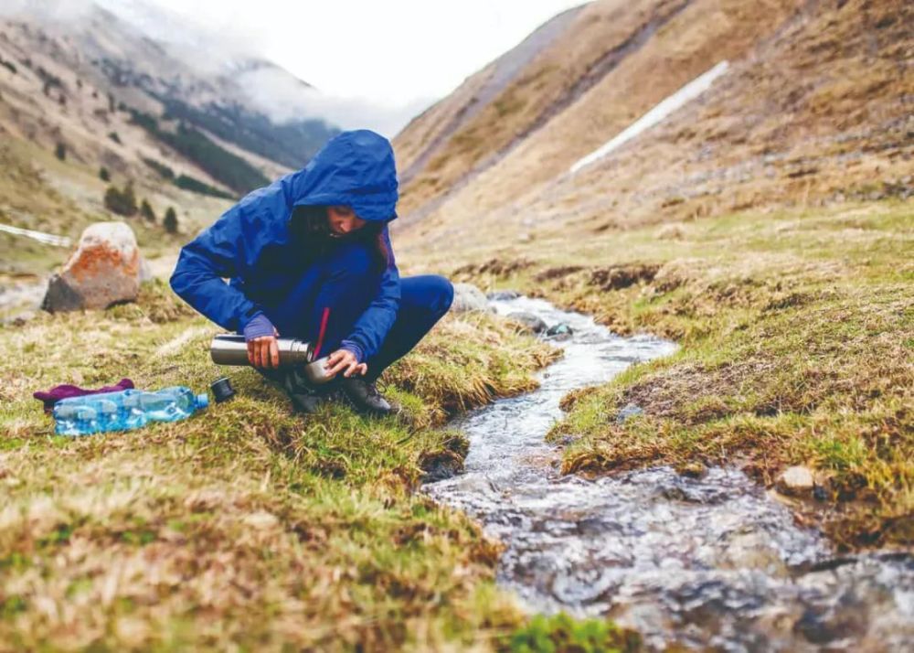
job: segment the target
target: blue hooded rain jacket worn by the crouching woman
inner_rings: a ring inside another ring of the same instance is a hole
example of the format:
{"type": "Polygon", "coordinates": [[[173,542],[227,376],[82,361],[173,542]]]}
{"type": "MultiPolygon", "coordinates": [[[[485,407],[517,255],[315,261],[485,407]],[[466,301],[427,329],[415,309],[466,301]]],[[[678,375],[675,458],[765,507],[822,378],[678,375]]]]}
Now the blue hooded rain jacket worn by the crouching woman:
{"type": "MultiPolygon", "coordinates": [[[[292,238],[289,221],[299,206],[345,205],[361,219],[397,218],[397,169],[384,136],[368,130],[335,136],[302,170],[252,191],[188,242],[171,286],[200,313],[228,330],[242,330],[280,298],[309,261],[292,238]],[[229,279],[225,284],[223,279],[229,279]]],[[[377,295],[356,320],[347,341],[370,359],[397,316],[399,272],[390,246],[377,295]]]]}

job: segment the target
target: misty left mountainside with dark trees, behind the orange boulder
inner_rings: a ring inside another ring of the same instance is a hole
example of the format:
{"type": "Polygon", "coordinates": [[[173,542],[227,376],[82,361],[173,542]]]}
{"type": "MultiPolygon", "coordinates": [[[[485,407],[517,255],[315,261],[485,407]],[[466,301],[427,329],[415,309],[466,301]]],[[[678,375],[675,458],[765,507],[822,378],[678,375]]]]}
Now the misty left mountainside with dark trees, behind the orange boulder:
{"type": "MultiPolygon", "coordinates": [[[[160,32],[177,29],[151,18],[160,32]]],[[[195,58],[143,27],[90,2],[66,15],[0,15],[0,223],[75,240],[91,222],[119,218],[103,197],[129,183],[158,220],[127,218],[145,255],[168,257],[232,199],[303,166],[338,132],[295,117],[319,93],[289,72],[217,41],[207,51],[224,59],[195,58]],[[286,101],[282,121],[265,112],[271,90],[286,101]],[[161,225],[169,208],[177,235],[161,225]]],[[[191,42],[207,38],[180,28],[191,42]]],[[[0,251],[5,319],[35,304],[68,252],[8,233],[0,251]]]]}

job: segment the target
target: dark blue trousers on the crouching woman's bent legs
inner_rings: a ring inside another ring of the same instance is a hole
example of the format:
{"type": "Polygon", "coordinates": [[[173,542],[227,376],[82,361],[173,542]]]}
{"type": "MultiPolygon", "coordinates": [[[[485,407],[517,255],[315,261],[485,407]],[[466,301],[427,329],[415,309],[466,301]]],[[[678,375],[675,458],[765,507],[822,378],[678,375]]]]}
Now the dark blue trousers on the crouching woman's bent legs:
{"type": "MultiPolygon", "coordinates": [[[[356,320],[377,293],[381,272],[367,245],[344,243],[309,267],[292,291],[266,313],[283,337],[316,342],[324,307],[330,318],[321,354],[339,348],[352,333],[356,320]]],[[[391,363],[414,348],[431,327],[448,312],[453,300],[450,281],[436,274],[400,279],[397,318],[377,353],[366,362],[367,380],[375,380],[391,363]]]]}

